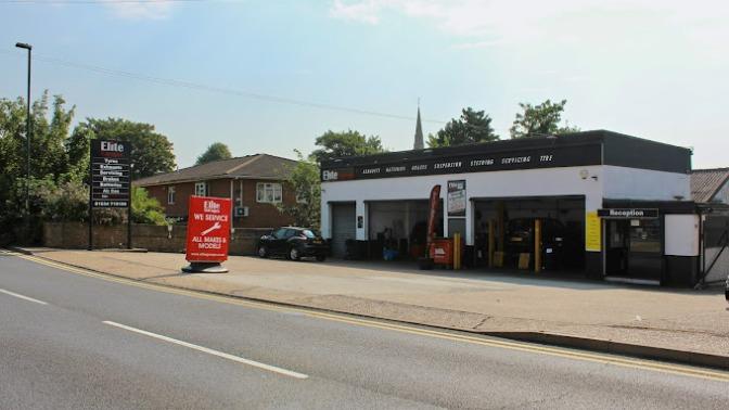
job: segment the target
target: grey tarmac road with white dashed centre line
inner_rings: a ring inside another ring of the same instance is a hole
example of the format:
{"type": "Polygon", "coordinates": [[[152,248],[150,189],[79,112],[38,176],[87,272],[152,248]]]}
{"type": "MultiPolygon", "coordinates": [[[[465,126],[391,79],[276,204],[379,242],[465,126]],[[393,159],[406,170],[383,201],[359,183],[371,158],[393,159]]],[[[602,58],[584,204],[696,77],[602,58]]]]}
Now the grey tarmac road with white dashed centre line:
{"type": "Polygon", "coordinates": [[[0,253],[0,408],[702,408],[729,373],[246,303],[0,253]]]}

